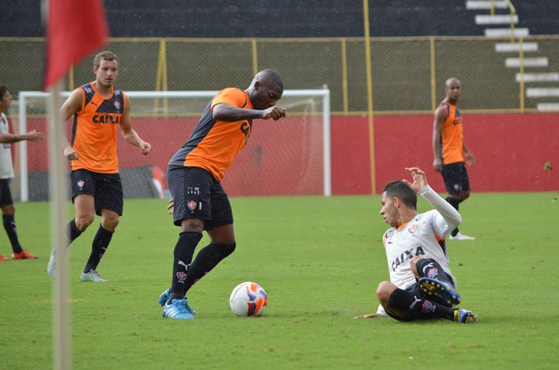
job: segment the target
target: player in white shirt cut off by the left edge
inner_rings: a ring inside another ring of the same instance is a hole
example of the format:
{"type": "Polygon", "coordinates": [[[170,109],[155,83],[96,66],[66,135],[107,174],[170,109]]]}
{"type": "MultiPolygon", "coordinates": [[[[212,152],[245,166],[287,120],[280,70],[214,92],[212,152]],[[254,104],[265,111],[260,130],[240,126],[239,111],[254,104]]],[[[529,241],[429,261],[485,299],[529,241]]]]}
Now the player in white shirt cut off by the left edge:
{"type": "MultiPolygon", "coordinates": [[[[4,225],[4,230],[6,230],[8,234],[8,239],[10,239],[10,243],[12,244],[12,258],[37,258],[36,255],[32,255],[27,252],[26,249],[22,249],[20,241],[17,238],[16,221],[13,216],[16,213],[16,207],[13,206],[12,192],[10,191],[10,179],[15,175],[13,173],[12,148],[10,143],[17,143],[21,140],[41,141],[45,138],[45,134],[36,132],[35,130],[21,135],[10,134],[8,120],[4,112],[10,109],[11,106],[12,96],[10,91],[8,91],[8,87],[4,84],[0,84],[0,143],[2,143],[0,148],[0,207],[2,208],[2,223],[4,225]]],[[[0,261],[7,261],[9,259],[10,258],[0,254],[0,261]]]]}

